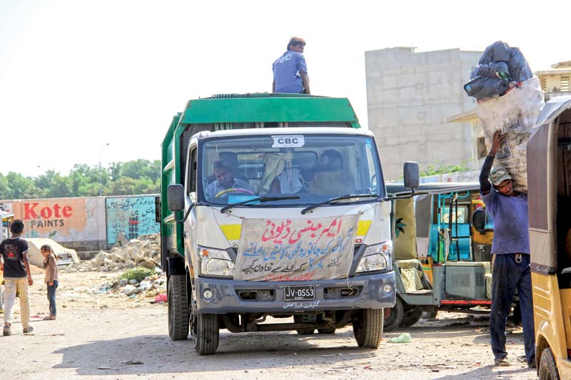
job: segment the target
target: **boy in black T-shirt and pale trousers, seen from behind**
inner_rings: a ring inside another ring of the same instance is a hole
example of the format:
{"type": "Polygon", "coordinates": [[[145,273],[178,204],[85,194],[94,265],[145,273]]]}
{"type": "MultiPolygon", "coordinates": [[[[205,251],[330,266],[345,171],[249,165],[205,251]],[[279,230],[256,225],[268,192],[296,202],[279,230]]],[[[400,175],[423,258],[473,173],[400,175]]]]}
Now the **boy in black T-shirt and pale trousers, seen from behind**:
{"type": "Polygon", "coordinates": [[[4,270],[4,336],[11,335],[12,319],[16,291],[20,294],[20,313],[24,334],[34,331],[30,326],[30,299],[28,286],[34,284],[28,259],[28,242],[21,239],[24,233],[24,222],[17,219],[10,225],[12,236],[0,243],[0,269],[4,270]]]}

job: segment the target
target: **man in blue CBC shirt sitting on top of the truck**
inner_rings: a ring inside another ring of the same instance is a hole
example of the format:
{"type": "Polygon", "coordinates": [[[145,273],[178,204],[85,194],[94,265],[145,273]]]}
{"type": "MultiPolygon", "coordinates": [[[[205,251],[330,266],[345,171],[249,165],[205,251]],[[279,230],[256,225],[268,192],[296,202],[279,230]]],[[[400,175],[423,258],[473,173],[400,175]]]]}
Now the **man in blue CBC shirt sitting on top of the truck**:
{"type": "Polygon", "coordinates": [[[310,93],[308,66],[305,64],[303,38],[292,37],[285,51],[273,62],[274,93],[310,93]]]}

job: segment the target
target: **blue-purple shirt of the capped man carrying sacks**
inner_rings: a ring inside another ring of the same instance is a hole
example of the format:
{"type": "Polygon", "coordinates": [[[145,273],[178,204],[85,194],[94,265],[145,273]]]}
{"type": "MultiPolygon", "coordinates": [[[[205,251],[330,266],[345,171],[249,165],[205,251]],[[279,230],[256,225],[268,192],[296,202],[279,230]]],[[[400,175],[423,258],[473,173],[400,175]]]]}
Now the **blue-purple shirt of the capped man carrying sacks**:
{"type": "Polygon", "coordinates": [[[487,212],[494,219],[492,253],[530,253],[527,194],[510,197],[494,189],[482,195],[487,212]]]}

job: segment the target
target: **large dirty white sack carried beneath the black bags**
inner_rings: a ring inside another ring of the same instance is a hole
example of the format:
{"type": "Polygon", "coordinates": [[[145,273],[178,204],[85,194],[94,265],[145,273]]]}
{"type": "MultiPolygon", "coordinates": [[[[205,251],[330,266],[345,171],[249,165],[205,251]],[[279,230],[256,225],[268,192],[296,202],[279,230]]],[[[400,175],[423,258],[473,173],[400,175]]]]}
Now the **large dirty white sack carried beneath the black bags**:
{"type": "Polygon", "coordinates": [[[505,143],[495,155],[494,166],[505,166],[514,180],[514,189],[520,192],[527,192],[525,146],[544,104],[537,76],[512,88],[504,96],[476,103],[488,149],[496,130],[507,133],[505,143]]]}

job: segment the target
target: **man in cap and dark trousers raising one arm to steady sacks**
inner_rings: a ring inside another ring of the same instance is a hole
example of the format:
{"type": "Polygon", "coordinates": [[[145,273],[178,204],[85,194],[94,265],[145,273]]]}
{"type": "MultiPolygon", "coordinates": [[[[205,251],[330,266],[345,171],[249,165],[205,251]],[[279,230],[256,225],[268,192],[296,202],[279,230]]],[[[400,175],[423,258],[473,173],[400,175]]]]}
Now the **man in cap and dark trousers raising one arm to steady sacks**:
{"type": "Polygon", "coordinates": [[[504,140],[505,135],[496,131],[480,173],[482,200],[494,220],[490,338],[495,365],[509,366],[505,351],[505,320],[517,289],[522,310],[525,359],[528,366],[535,367],[527,194],[513,190],[512,177],[504,167],[498,166],[490,173],[495,154],[504,140]]]}

